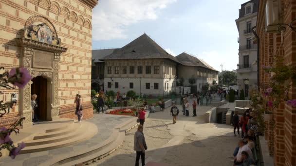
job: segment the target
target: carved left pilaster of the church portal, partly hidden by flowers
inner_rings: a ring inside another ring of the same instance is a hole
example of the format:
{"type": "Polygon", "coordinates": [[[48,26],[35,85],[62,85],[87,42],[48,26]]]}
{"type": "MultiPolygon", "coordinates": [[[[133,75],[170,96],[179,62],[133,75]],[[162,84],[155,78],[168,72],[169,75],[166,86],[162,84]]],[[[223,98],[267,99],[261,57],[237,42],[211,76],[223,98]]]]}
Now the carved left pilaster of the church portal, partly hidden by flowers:
{"type": "MultiPolygon", "coordinates": [[[[32,48],[23,48],[23,58],[21,58],[20,66],[28,69],[31,74],[32,57],[34,50],[32,48]]],[[[32,108],[31,108],[31,82],[29,82],[23,89],[20,89],[20,111],[22,111],[22,117],[25,117],[23,121],[23,127],[33,125],[32,123],[32,108]]]]}

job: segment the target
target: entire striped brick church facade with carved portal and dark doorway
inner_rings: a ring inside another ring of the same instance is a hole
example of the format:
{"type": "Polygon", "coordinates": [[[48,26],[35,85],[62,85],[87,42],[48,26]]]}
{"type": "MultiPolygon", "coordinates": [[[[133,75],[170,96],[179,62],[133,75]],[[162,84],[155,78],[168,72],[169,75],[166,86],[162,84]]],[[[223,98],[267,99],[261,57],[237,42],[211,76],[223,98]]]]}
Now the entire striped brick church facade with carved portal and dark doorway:
{"type": "Polygon", "coordinates": [[[8,126],[25,117],[32,125],[31,95],[37,95],[38,118],[76,118],[75,95],[81,95],[84,118],[92,117],[92,8],[97,0],[0,0],[0,66],[26,67],[32,81],[6,90],[0,100],[17,95],[17,105],[0,119],[8,126]]]}

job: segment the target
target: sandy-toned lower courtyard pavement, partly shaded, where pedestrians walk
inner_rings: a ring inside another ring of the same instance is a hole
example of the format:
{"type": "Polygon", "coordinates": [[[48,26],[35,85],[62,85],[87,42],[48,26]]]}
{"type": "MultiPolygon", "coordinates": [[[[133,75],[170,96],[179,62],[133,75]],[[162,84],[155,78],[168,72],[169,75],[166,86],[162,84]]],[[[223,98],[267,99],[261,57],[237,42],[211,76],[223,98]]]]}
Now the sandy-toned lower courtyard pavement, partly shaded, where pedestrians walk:
{"type": "MultiPolygon", "coordinates": [[[[192,101],[190,101],[191,103],[192,101]]],[[[178,106],[181,110],[181,106],[178,106]]],[[[154,166],[230,166],[237,144],[231,126],[204,123],[203,115],[211,107],[198,107],[198,116],[178,116],[172,124],[170,108],[150,114],[144,124],[147,140],[146,165],[154,166]]],[[[136,129],[127,133],[123,145],[111,155],[92,163],[92,166],[134,165],[133,139],[136,129]]]]}

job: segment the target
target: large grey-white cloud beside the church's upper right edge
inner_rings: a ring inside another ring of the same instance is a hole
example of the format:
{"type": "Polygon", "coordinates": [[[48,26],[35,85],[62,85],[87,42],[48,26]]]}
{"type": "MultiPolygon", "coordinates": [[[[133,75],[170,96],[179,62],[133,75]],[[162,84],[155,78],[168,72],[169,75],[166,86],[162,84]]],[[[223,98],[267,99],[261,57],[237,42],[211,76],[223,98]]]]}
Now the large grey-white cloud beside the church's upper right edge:
{"type": "Polygon", "coordinates": [[[92,12],[93,40],[127,38],[126,30],[141,20],[155,20],[176,0],[100,0],[92,12]]]}

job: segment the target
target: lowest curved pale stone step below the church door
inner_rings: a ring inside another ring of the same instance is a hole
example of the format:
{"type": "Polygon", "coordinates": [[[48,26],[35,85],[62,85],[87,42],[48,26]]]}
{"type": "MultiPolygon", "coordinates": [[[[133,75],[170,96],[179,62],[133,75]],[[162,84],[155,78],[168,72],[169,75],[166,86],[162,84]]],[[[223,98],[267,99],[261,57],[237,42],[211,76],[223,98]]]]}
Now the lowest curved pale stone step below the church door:
{"type": "Polygon", "coordinates": [[[21,154],[69,146],[91,138],[98,131],[97,126],[89,122],[84,121],[79,124],[79,126],[81,127],[75,130],[74,133],[69,133],[57,137],[27,141],[25,142],[25,144],[28,146],[21,150],[21,154]]]}

